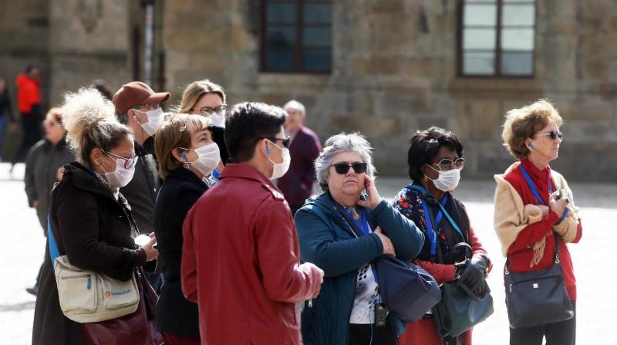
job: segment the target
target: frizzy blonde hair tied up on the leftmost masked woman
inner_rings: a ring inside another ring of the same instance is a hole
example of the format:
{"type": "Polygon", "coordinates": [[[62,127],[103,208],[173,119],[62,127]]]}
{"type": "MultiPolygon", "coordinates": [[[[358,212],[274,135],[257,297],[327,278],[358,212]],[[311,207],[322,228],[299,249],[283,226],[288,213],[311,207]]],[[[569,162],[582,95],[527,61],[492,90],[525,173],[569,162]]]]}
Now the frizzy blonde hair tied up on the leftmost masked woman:
{"type": "Polygon", "coordinates": [[[130,128],[118,122],[114,104],[94,88],[80,88],[66,93],[60,109],[67,141],[77,160],[90,166],[90,153],[99,148],[105,151],[118,146],[131,134],[130,128]]]}

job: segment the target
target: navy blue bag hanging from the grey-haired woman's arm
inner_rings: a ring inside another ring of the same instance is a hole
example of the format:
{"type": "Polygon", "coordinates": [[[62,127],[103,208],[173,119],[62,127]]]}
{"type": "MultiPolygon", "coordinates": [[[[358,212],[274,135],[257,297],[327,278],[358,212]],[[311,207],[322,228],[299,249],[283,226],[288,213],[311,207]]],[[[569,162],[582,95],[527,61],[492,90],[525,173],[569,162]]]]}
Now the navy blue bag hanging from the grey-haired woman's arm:
{"type": "Polygon", "coordinates": [[[400,320],[420,320],[441,299],[437,281],[423,268],[389,255],[378,257],[375,265],[381,299],[400,320]]]}

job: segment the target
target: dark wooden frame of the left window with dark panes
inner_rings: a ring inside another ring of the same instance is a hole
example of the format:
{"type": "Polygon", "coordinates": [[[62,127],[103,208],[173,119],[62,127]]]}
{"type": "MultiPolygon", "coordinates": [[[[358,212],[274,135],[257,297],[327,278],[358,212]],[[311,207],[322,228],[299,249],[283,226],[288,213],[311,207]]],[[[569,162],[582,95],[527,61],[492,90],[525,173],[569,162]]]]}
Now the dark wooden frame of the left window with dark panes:
{"type": "Polygon", "coordinates": [[[331,6],[334,6],[334,3],[332,0],[295,0],[296,2],[296,23],[294,24],[294,27],[296,28],[295,33],[296,33],[296,44],[294,46],[294,68],[293,69],[289,69],[289,70],[268,70],[266,67],[266,54],[267,54],[267,48],[266,48],[266,33],[268,31],[268,25],[269,24],[274,24],[274,25],[287,25],[289,27],[291,27],[292,25],[289,23],[268,23],[268,18],[267,18],[267,12],[268,12],[268,2],[279,2],[281,4],[285,4],[285,3],[289,3],[289,2],[294,2],[294,1],[289,1],[289,0],[261,0],[261,21],[262,21],[262,25],[260,28],[260,33],[261,33],[261,43],[260,43],[260,47],[261,47],[261,52],[260,52],[260,70],[261,72],[265,72],[265,73],[304,73],[304,74],[329,74],[332,73],[332,42],[330,42],[329,46],[304,46],[304,28],[306,27],[329,27],[330,28],[330,38],[332,39],[332,17],[330,20],[329,25],[325,25],[325,24],[321,24],[321,23],[311,23],[308,25],[305,25],[304,23],[304,7],[306,4],[329,4],[331,6]],[[304,69],[302,68],[302,63],[304,62],[302,60],[302,49],[305,48],[321,48],[321,49],[326,49],[329,48],[330,49],[330,68],[327,70],[308,70],[308,69],[304,69]]]}

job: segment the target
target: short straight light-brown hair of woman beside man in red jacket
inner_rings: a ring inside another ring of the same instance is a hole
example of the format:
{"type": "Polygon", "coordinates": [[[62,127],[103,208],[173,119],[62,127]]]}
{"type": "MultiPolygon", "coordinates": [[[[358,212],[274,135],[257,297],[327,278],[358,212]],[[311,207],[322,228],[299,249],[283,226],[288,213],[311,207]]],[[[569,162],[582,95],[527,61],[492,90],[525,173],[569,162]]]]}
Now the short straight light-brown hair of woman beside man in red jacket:
{"type": "Polygon", "coordinates": [[[207,117],[194,114],[172,114],[163,122],[154,139],[161,178],[167,178],[173,170],[183,165],[173,156],[173,150],[190,149],[191,137],[199,131],[208,130],[209,125],[207,117]]]}

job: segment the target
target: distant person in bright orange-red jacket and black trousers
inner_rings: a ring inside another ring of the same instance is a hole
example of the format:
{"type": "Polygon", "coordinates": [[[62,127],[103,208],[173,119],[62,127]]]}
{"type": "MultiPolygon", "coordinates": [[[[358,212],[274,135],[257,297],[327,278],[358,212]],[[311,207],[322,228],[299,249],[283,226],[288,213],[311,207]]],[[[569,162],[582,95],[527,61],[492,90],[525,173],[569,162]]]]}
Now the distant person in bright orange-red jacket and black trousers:
{"type": "Polygon", "coordinates": [[[43,120],[43,109],[41,109],[41,82],[39,76],[41,70],[28,65],[24,73],[17,75],[17,110],[21,114],[22,121],[22,143],[15,152],[10,162],[10,172],[13,171],[15,163],[23,159],[23,155],[28,149],[41,139],[41,121],[43,120]]]}

